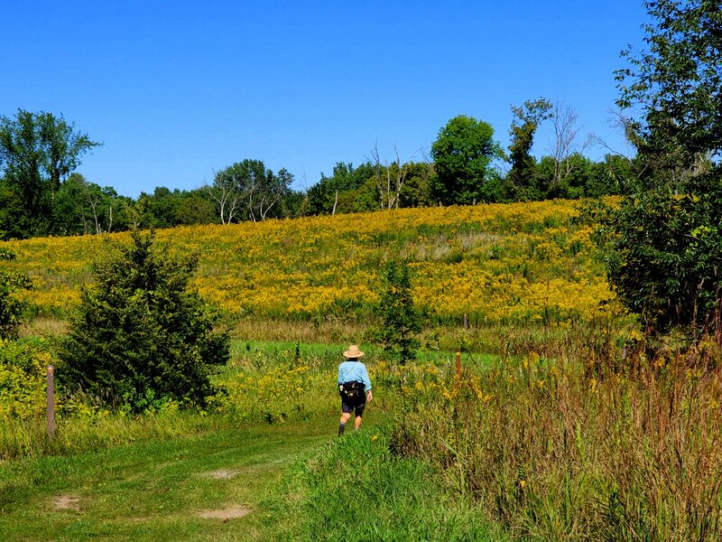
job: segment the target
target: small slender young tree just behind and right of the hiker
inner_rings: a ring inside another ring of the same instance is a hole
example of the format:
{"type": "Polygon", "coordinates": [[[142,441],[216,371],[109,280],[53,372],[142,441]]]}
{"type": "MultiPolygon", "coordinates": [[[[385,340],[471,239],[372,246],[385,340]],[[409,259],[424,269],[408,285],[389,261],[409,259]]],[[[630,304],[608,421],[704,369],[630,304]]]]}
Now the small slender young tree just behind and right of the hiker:
{"type": "Polygon", "coordinates": [[[421,313],[413,304],[409,266],[406,262],[386,264],[385,290],[381,294],[379,313],[383,319],[380,332],[384,350],[391,357],[406,363],[416,359],[420,346],[421,313]]]}

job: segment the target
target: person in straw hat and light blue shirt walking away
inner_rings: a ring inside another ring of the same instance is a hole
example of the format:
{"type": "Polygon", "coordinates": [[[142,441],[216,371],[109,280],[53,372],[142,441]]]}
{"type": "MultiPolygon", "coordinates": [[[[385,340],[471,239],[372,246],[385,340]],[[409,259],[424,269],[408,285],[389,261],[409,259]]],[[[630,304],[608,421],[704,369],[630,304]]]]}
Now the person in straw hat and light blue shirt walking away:
{"type": "Polygon", "coordinates": [[[373,398],[366,365],[359,361],[363,356],[364,352],[358,350],[356,344],[352,344],[344,352],[346,361],[342,361],[338,366],[338,393],[341,394],[341,423],[338,425],[338,436],[344,434],[346,423],[352,413],[356,415],[354,431],[358,431],[366,402],[370,403],[373,398]]]}

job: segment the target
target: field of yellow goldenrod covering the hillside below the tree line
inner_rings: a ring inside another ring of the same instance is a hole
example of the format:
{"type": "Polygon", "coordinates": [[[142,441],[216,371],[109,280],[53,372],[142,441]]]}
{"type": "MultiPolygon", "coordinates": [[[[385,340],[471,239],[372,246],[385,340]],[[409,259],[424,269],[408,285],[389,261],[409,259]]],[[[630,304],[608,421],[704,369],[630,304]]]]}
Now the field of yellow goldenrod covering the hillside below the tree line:
{"type": "MultiPolygon", "coordinates": [[[[384,263],[407,259],[417,304],[474,322],[584,321],[612,297],[590,229],[572,201],[406,209],[159,230],[171,251],[197,251],[196,286],[231,314],[309,319],[367,314],[384,263]]],[[[106,236],[125,241],[127,234],[106,236]]],[[[106,238],[0,244],[32,277],[41,314],[64,317],[91,280],[106,238]]]]}

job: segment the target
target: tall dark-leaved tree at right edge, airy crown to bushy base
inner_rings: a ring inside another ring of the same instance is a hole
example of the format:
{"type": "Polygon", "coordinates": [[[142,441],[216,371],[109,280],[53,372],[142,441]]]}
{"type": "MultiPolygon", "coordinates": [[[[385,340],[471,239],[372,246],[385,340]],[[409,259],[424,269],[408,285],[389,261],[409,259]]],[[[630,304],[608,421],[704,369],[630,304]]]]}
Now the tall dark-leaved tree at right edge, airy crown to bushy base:
{"type": "Polygon", "coordinates": [[[658,331],[707,324],[722,292],[722,10],[644,2],[648,50],[617,73],[627,133],[649,173],[613,217],[608,273],[658,331]]]}

